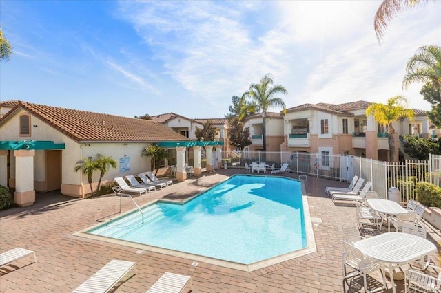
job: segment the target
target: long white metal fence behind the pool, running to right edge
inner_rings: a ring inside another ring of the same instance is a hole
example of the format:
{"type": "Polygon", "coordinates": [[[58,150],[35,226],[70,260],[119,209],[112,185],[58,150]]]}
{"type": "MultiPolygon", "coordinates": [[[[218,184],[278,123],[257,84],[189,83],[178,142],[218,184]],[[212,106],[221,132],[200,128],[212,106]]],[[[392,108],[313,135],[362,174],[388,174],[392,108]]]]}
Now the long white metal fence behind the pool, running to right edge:
{"type": "Polygon", "coordinates": [[[244,168],[245,162],[268,164],[278,169],[289,164],[293,173],[313,175],[330,180],[351,181],[354,175],[372,182],[372,190],[387,198],[389,188],[400,190],[400,202],[406,204],[416,197],[416,183],[431,182],[441,187],[441,155],[429,155],[429,161],[381,162],[352,155],[327,155],[307,152],[248,151],[224,155],[228,168],[244,168]],[[227,158],[225,158],[227,157],[227,158]]]}

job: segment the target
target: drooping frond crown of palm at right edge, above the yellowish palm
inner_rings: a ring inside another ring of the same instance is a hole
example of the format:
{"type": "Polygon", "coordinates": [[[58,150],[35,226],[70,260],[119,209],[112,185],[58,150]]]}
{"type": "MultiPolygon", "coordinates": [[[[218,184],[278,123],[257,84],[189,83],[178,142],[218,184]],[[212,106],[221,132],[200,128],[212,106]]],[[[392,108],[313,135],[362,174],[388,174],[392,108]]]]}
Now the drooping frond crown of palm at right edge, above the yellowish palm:
{"type": "Polygon", "coordinates": [[[441,47],[422,46],[406,66],[407,74],[402,80],[403,88],[415,82],[431,82],[441,94],[441,47]]]}

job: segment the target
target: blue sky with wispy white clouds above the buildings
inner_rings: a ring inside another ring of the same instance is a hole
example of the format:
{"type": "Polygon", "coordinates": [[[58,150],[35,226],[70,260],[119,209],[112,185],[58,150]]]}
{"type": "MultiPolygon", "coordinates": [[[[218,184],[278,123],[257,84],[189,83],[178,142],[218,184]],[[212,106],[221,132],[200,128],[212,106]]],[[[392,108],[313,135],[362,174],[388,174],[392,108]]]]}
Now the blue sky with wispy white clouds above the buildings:
{"type": "MultiPolygon", "coordinates": [[[[397,15],[382,45],[380,1],[0,1],[14,47],[0,100],[134,117],[221,118],[266,73],[287,107],[396,94],[409,58],[441,45],[441,2],[397,15]]],[[[273,109],[277,110],[277,109],[273,109]]]]}

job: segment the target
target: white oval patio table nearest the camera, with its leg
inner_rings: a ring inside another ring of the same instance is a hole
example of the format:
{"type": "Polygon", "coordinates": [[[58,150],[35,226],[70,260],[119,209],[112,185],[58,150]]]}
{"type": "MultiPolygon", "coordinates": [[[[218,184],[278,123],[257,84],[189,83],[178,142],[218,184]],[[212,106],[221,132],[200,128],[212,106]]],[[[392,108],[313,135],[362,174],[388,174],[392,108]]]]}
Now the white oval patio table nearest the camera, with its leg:
{"type": "MultiPolygon", "coordinates": [[[[389,272],[393,272],[394,266],[400,267],[436,251],[436,246],[431,241],[402,232],[387,232],[362,239],[356,241],[354,246],[366,257],[382,261],[384,265],[388,263],[389,272]]],[[[390,279],[392,292],[396,292],[393,277],[390,279]]]]}

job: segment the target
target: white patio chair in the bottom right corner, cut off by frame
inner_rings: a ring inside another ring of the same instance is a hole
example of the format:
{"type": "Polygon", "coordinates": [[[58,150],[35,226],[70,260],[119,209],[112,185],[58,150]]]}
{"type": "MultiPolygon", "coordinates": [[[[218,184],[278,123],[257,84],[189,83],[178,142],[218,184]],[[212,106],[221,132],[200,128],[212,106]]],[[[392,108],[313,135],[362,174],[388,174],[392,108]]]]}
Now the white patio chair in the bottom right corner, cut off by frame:
{"type": "Polygon", "coordinates": [[[439,272],[438,277],[409,269],[405,273],[404,292],[411,289],[416,292],[441,292],[441,268],[434,267],[439,272]]]}

